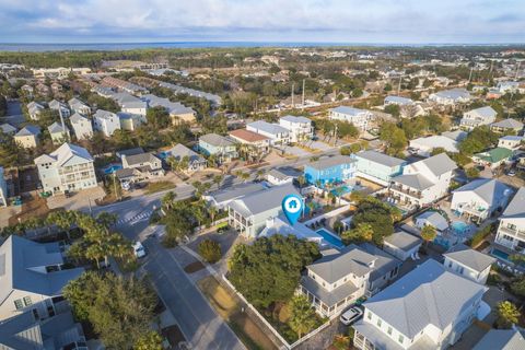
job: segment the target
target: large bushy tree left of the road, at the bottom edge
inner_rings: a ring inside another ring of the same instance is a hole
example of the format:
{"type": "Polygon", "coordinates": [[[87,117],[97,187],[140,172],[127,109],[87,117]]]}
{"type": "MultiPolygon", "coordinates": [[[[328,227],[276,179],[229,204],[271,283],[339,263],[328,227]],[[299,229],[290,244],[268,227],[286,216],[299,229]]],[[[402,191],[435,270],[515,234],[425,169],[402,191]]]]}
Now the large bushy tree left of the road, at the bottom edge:
{"type": "Polygon", "coordinates": [[[69,282],[63,296],[109,349],[131,349],[150,332],[156,298],[143,279],[90,271],[69,282]]]}

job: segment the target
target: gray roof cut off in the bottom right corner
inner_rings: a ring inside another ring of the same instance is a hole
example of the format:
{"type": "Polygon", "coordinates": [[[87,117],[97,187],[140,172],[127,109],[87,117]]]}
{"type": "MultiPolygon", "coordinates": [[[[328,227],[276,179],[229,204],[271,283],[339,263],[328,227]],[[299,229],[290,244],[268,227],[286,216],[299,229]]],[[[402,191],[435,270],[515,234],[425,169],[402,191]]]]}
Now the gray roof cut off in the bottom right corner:
{"type": "Polygon", "coordinates": [[[525,330],[490,329],[472,350],[523,350],[525,349],[525,330]]]}

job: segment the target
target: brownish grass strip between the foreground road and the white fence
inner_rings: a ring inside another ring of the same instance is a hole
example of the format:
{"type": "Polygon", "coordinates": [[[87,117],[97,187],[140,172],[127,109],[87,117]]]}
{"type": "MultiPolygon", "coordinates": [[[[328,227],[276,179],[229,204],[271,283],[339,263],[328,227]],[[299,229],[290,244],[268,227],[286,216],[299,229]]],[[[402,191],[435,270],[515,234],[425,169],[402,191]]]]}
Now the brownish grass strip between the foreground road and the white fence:
{"type": "Polygon", "coordinates": [[[237,335],[248,349],[277,350],[262,329],[242,312],[237,298],[223,288],[213,277],[201,279],[198,285],[217,313],[224,318],[230,328],[237,335]]]}

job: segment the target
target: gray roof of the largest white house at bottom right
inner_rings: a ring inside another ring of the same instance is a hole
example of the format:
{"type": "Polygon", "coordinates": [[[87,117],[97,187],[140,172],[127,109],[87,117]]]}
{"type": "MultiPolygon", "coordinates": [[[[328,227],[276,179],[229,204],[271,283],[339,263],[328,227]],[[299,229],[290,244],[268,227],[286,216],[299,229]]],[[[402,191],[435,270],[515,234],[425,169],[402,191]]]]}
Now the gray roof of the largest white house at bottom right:
{"type": "Polygon", "coordinates": [[[369,299],[363,305],[409,338],[429,324],[445,329],[486,287],[429,259],[369,299]]]}

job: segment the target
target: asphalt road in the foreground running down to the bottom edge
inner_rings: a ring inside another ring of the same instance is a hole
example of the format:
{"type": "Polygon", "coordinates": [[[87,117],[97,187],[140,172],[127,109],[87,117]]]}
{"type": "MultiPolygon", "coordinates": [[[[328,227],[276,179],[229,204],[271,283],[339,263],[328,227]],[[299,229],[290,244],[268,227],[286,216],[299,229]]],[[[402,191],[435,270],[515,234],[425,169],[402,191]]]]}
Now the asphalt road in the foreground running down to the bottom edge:
{"type": "Polygon", "coordinates": [[[156,238],[147,240],[144,245],[149,252],[144,270],[192,348],[245,349],[199,289],[191,283],[172,252],[160,246],[156,238]]]}

